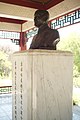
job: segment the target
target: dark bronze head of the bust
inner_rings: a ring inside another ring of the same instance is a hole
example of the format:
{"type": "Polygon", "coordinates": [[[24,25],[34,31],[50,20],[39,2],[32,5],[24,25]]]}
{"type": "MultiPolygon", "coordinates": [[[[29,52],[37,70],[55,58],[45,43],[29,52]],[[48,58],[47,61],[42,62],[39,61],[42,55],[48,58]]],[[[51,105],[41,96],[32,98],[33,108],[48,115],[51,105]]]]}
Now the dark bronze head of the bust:
{"type": "Polygon", "coordinates": [[[47,23],[49,19],[49,12],[46,10],[37,10],[34,14],[34,25],[36,27],[41,27],[43,24],[47,23]]]}

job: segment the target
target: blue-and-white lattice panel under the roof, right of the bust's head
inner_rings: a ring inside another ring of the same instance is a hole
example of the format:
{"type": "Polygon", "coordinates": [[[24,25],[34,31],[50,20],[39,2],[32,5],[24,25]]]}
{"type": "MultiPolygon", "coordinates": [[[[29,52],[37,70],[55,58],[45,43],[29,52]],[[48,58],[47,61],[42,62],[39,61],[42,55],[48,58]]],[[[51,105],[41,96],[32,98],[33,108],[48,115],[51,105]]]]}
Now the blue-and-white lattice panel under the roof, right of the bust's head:
{"type": "Polygon", "coordinates": [[[59,29],[80,22],[80,8],[51,20],[51,28],[59,29]]]}

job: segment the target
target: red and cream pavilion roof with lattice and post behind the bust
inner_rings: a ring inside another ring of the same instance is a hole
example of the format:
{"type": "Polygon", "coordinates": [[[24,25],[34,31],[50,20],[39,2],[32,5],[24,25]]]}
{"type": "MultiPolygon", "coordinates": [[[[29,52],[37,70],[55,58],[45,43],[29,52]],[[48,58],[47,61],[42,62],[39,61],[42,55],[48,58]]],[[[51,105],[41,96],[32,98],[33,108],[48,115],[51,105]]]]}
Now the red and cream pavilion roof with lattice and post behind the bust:
{"type": "Polygon", "coordinates": [[[33,15],[37,9],[49,11],[52,28],[80,22],[80,0],[0,0],[0,38],[9,38],[26,50],[27,40],[36,34],[33,15]]]}

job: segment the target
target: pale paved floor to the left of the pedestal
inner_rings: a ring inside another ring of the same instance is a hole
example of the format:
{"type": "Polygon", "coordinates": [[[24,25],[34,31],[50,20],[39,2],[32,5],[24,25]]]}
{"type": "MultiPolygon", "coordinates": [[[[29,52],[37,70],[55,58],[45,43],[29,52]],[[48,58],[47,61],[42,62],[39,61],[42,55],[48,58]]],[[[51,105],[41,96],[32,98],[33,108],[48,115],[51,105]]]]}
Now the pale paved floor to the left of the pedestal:
{"type": "Polygon", "coordinates": [[[0,120],[12,120],[12,94],[0,95],[0,120]]]}

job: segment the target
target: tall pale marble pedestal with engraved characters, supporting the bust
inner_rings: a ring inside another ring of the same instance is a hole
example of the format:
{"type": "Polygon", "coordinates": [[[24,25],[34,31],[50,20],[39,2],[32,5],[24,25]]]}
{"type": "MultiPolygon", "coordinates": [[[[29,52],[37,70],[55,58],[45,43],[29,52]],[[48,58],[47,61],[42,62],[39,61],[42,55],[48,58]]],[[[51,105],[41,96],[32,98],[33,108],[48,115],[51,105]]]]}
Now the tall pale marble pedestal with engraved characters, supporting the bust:
{"type": "Polygon", "coordinates": [[[72,64],[70,52],[14,53],[13,120],[72,120],[72,64]]]}

